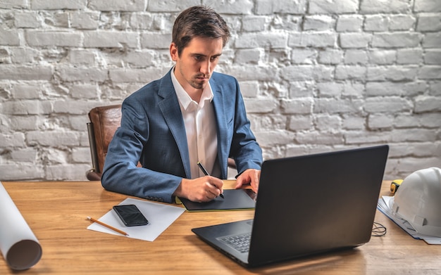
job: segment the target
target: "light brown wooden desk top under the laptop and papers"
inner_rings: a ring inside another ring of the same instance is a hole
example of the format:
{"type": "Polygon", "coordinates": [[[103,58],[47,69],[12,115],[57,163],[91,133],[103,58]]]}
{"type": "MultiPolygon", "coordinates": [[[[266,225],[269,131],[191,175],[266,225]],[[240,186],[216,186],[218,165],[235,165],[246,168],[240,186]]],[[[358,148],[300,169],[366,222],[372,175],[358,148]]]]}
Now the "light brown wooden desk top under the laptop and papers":
{"type": "MultiPolygon", "coordinates": [[[[87,230],[128,196],[104,191],[98,181],[3,182],[43,248],[23,274],[439,274],[441,246],[417,241],[377,211],[383,237],[353,250],[244,269],[190,229],[250,219],[254,211],[184,212],[154,242],[87,230]]],[[[385,182],[382,195],[388,195],[385,182]]],[[[22,273],[22,272],[17,272],[22,273]]],[[[15,274],[4,259],[0,274],[15,274]]]]}

